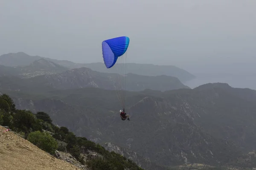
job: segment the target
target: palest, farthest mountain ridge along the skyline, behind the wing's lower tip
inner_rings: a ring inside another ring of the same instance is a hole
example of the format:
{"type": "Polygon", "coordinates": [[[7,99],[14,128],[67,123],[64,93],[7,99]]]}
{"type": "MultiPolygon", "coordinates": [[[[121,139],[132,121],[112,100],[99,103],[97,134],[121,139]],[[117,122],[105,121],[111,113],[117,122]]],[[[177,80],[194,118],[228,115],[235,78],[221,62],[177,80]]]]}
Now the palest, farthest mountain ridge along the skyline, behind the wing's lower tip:
{"type": "MultiPolygon", "coordinates": [[[[107,69],[103,63],[74,63],[67,60],[50,59],[39,56],[29,56],[23,52],[3,54],[0,56],[0,65],[5,66],[25,66],[30,65],[32,62],[38,59],[46,59],[54,62],[58,65],[62,65],[66,68],[91,68],[93,71],[105,72],[105,73],[116,73],[116,69],[107,69]]],[[[120,67],[120,64],[116,63],[116,67],[120,67]]],[[[138,74],[143,76],[172,76],[177,77],[181,82],[194,79],[195,76],[189,72],[177,68],[173,65],[152,65],[152,64],[135,64],[126,63],[126,73],[138,74]]]]}

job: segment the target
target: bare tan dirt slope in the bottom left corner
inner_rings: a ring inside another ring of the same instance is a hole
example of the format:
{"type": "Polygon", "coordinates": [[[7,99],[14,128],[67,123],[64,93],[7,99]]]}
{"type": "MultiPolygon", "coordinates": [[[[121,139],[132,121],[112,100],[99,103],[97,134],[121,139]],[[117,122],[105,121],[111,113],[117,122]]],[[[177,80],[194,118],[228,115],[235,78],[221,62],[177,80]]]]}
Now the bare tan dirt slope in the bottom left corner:
{"type": "Polygon", "coordinates": [[[81,170],[0,126],[1,170],[81,170]]]}

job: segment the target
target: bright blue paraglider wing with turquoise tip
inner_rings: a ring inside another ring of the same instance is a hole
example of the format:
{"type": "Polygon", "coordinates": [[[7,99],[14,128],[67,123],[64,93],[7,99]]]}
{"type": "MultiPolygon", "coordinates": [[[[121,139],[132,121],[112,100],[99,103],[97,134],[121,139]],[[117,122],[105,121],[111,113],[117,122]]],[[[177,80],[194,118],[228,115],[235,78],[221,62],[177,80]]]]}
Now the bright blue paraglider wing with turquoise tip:
{"type": "Polygon", "coordinates": [[[125,54],[130,39],[129,37],[116,37],[102,42],[102,55],[107,68],[115,65],[118,57],[125,54]]]}

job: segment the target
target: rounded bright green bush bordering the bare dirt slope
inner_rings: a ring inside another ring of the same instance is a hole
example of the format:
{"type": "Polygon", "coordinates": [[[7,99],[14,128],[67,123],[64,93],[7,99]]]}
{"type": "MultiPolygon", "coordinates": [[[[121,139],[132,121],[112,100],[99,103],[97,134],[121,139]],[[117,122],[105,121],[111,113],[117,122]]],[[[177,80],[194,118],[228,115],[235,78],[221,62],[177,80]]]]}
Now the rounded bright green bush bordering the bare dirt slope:
{"type": "Polygon", "coordinates": [[[47,132],[35,131],[29,133],[28,141],[51,154],[54,154],[58,148],[57,141],[47,132]]]}

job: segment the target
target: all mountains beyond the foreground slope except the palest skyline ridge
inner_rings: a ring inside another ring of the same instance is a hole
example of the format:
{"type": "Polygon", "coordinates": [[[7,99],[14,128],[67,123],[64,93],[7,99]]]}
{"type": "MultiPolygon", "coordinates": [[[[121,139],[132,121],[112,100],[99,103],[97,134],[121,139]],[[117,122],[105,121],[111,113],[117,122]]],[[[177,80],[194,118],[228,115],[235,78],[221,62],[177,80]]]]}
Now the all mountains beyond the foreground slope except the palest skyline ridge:
{"type": "MultiPolygon", "coordinates": [[[[39,58],[29,65],[46,61],[53,62],[39,58]]],[[[255,150],[256,91],[225,83],[190,89],[176,77],[130,73],[125,110],[131,121],[121,121],[113,85],[120,75],[54,63],[59,69],[33,67],[50,73],[26,78],[14,71],[21,66],[0,67],[5,71],[0,92],[9,94],[18,109],[49,113],[55,124],[147,170],[195,163],[255,166],[248,152],[255,150]]]]}

